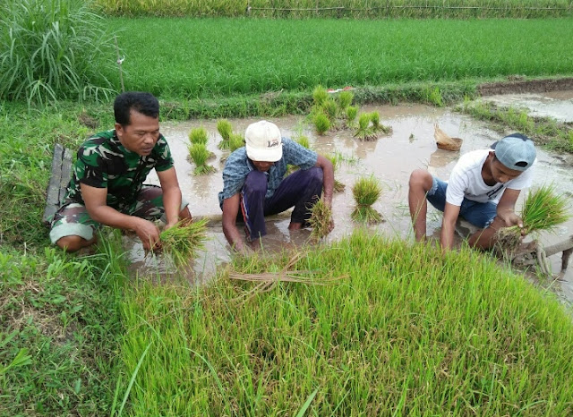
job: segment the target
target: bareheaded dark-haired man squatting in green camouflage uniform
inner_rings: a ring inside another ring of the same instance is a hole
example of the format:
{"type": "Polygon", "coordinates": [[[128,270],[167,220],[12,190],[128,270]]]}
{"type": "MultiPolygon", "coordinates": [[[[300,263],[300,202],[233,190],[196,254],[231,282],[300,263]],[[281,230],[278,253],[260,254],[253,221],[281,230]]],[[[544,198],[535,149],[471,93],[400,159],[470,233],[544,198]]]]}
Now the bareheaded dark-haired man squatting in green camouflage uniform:
{"type": "Polygon", "coordinates": [[[115,98],[115,129],[100,132],[78,150],[73,177],[52,221],[50,239],[66,251],[96,241],[101,225],[133,230],[146,250],[158,248],[162,217],[167,227],[191,219],[182,202],[173,158],[159,132],[159,103],[150,93],[115,98]],[[161,186],[144,185],[155,168],[161,186]]]}

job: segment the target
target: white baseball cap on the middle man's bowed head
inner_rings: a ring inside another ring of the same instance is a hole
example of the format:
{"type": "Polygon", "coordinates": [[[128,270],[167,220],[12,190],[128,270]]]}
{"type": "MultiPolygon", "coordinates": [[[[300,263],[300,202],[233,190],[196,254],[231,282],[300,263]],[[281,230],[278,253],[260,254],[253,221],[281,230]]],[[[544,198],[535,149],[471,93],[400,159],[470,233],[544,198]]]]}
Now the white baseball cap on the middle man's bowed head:
{"type": "Polygon", "coordinates": [[[277,162],[283,157],[283,143],[275,123],[261,120],[251,123],[244,132],[247,157],[253,161],[277,162]]]}

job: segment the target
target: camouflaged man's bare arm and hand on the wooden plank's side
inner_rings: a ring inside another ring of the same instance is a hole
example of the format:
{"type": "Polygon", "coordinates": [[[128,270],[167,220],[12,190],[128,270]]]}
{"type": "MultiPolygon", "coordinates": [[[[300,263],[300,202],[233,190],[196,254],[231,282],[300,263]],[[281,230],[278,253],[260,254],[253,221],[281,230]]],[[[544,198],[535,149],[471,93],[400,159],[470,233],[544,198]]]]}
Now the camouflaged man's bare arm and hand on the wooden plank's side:
{"type": "Polygon", "coordinates": [[[81,198],[91,218],[102,225],[133,230],[143,243],[143,248],[150,250],[159,240],[158,227],[144,218],[128,216],[107,206],[107,188],[96,188],[80,184],[81,198]]]}

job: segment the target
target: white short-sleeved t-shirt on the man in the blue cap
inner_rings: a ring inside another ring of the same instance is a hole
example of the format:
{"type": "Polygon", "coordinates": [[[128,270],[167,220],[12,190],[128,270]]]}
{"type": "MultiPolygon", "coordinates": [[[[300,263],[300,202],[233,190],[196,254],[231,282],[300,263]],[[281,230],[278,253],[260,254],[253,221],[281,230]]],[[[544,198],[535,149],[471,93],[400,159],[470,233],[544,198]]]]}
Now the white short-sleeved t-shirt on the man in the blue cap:
{"type": "Polygon", "coordinates": [[[509,180],[507,183],[496,183],[495,185],[484,183],[482,166],[491,150],[474,150],[459,158],[458,164],[454,166],[449,175],[448,190],[446,191],[446,201],[449,204],[461,206],[464,197],[467,200],[481,203],[492,201],[497,204],[506,188],[523,190],[531,186],[534,166],[526,169],[517,178],[509,180]]]}

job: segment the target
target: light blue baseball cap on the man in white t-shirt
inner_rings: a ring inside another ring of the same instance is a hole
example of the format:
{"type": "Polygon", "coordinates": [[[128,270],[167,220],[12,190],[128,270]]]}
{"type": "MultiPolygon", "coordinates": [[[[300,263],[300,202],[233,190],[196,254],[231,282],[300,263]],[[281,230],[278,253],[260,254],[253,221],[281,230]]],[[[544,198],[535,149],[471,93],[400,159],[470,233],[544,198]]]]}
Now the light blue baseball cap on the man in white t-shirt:
{"type": "Polygon", "coordinates": [[[492,145],[495,157],[503,166],[516,171],[525,171],[534,165],[537,151],[533,140],[521,133],[511,133],[492,145]]]}

